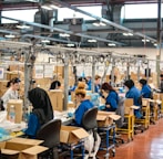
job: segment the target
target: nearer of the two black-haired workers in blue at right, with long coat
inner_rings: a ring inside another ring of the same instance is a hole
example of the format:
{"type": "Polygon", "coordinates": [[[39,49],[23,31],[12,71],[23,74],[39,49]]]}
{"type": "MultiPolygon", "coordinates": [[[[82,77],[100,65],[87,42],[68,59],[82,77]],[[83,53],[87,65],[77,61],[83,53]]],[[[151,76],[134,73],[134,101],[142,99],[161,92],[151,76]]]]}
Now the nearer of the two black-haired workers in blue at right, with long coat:
{"type": "MultiPolygon", "coordinates": [[[[128,80],[124,82],[124,86],[126,89],[126,94],[125,97],[126,98],[133,98],[133,104],[135,106],[139,106],[141,108],[140,105],[140,97],[141,97],[141,92],[134,86],[134,82],[132,80],[128,80]]],[[[134,115],[136,118],[143,118],[140,109],[134,109],[134,115]]]]}

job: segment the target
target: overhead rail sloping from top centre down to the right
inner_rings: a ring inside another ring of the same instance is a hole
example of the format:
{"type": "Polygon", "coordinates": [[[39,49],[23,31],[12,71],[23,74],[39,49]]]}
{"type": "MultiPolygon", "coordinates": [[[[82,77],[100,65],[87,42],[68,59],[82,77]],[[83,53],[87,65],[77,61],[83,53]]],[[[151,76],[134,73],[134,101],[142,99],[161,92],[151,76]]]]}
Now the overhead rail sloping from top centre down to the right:
{"type": "Polygon", "coordinates": [[[112,22],[112,21],[110,21],[110,20],[106,20],[106,19],[104,19],[104,18],[100,18],[100,17],[96,17],[96,15],[94,15],[94,14],[91,14],[91,13],[89,13],[89,12],[86,12],[86,11],[83,11],[83,10],[81,10],[81,9],[74,7],[74,6],[71,6],[71,4],[67,3],[67,2],[63,2],[63,1],[60,1],[60,0],[51,0],[51,2],[53,2],[54,4],[59,4],[59,6],[61,6],[61,7],[69,8],[69,9],[71,9],[71,10],[77,11],[77,12],[83,13],[83,14],[89,15],[89,17],[91,17],[91,18],[94,18],[95,20],[99,20],[100,22],[104,22],[105,24],[109,24],[109,25],[114,26],[114,28],[116,28],[116,29],[120,29],[120,30],[122,30],[122,31],[125,31],[125,32],[132,33],[132,34],[134,34],[134,35],[141,36],[141,38],[143,38],[143,39],[149,39],[149,40],[151,40],[151,41],[153,41],[153,42],[156,42],[156,40],[153,39],[153,38],[150,38],[150,36],[145,35],[145,34],[140,33],[140,32],[134,32],[134,31],[131,30],[131,29],[128,29],[128,28],[125,28],[125,26],[122,26],[122,25],[120,25],[120,24],[118,24],[118,23],[114,23],[114,22],[112,22]]]}

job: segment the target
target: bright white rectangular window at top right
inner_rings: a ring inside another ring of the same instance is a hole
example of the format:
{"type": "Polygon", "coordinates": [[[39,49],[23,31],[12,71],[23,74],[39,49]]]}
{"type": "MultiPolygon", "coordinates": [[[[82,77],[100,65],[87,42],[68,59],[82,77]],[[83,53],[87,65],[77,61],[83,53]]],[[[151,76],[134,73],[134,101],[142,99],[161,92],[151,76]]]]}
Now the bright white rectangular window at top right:
{"type": "MultiPolygon", "coordinates": [[[[162,11],[163,15],[163,11],[162,11]]],[[[121,11],[121,19],[156,19],[157,4],[125,4],[121,11]]]]}

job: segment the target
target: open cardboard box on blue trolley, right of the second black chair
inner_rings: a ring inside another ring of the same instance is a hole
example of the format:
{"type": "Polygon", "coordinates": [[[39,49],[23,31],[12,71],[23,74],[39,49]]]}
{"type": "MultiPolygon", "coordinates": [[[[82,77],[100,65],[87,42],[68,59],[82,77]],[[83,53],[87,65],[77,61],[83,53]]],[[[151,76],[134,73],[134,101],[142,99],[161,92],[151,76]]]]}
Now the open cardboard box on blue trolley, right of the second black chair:
{"type": "Polygon", "coordinates": [[[113,124],[113,120],[120,119],[121,116],[115,115],[114,112],[98,112],[96,120],[99,127],[106,127],[113,124]]]}

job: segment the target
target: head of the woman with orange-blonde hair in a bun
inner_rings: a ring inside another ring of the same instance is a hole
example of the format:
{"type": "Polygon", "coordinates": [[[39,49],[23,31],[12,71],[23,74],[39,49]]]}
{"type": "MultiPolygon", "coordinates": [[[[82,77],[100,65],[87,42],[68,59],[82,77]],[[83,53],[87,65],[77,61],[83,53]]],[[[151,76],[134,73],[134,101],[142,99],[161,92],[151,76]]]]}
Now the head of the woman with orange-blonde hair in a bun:
{"type": "Polygon", "coordinates": [[[86,96],[85,83],[80,82],[75,89],[75,99],[77,102],[81,102],[85,98],[85,96],[86,96]]]}

